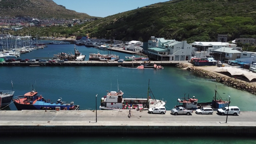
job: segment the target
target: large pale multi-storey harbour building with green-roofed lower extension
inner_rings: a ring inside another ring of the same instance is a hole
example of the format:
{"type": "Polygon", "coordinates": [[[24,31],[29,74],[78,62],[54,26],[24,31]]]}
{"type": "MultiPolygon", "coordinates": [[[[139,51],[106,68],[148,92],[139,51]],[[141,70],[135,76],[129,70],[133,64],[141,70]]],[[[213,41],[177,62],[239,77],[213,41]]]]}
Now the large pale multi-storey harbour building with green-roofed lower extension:
{"type": "Polygon", "coordinates": [[[192,46],[187,41],[159,40],[158,47],[148,48],[149,58],[161,61],[188,61],[192,46]]]}

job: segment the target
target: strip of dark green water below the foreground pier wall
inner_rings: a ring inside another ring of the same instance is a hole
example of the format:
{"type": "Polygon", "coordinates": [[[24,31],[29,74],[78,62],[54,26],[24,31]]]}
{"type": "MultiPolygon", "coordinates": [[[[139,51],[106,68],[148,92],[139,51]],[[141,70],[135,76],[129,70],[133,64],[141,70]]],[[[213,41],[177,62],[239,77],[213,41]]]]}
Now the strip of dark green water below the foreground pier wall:
{"type": "Polygon", "coordinates": [[[251,137],[0,137],[1,143],[11,144],[254,144],[251,137]]]}

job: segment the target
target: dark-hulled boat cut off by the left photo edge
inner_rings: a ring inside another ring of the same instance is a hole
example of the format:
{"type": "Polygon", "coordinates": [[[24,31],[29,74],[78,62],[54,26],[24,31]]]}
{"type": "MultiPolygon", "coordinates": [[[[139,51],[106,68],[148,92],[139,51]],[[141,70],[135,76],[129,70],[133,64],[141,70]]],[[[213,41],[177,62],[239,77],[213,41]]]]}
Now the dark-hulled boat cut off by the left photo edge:
{"type": "Polygon", "coordinates": [[[0,109],[11,103],[14,91],[0,91],[0,109]]]}

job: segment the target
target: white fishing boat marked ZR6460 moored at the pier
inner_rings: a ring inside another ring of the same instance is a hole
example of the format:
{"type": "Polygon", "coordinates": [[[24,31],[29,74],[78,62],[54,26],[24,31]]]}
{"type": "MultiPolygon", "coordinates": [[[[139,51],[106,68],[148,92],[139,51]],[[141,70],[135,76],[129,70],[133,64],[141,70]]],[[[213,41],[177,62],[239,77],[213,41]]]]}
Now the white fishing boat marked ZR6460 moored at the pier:
{"type": "Polygon", "coordinates": [[[166,101],[156,98],[148,86],[148,95],[140,96],[124,96],[124,93],[119,90],[107,91],[107,95],[101,98],[100,110],[149,110],[153,107],[164,107],[166,101]],[[151,96],[152,94],[152,96],[151,96]]]}

